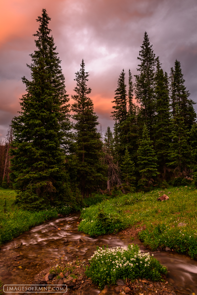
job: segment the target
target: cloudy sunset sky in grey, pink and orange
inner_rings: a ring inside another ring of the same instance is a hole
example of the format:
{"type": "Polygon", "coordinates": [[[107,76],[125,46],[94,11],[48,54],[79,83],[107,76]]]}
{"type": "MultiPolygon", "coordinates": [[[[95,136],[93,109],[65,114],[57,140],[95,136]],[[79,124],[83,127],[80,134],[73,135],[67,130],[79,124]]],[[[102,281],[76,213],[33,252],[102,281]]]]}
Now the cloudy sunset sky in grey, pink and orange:
{"type": "MultiPolygon", "coordinates": [[[[197,1],[196,0],[7,0],[0,4],[0,137],[20,111],[25,93],[22,77],[30,78],[27,64],[34,52],[36,19],[42,8],[51,17],[69,97],[74,94],[75,72],[82,58],[89,72],[98,121],[105,132],[113,128],[114,91],[124,68],[137,73],[140,46],[148,33],[162,68],[170,73],[181,63],[185,86],[197,102],[197,1]]],[[[72,103],[72,100],[70,100],[72,103]]],[[[197,110],[197,105],[195,106],[197,110]]]]}

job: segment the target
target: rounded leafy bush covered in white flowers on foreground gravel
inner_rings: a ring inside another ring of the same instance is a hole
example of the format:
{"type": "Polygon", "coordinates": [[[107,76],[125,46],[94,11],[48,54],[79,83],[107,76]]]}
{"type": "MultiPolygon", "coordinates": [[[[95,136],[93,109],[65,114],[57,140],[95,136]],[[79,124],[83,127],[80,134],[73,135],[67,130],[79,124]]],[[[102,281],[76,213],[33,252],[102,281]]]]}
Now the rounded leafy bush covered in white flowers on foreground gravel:
{"type": "Polygon", "coordinates": [[[161,274],[167,273],[167,268],[150,256],[141,253],[137,245],[126,247],[98,248],[89,260],[90,266],[86,268],[86,276],[91,277],[93,283],[103,288],[105,285],[115,284],[116,280],[150,278],[153,281],[161,279],[161,274]]]}

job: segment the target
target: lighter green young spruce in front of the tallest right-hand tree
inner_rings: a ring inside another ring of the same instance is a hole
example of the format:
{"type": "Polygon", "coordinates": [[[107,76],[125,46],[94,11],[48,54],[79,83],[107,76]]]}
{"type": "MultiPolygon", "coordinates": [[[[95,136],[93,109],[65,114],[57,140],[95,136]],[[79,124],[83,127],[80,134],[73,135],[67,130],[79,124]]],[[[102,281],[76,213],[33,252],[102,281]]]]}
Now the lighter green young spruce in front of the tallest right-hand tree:
{"type": "Polygon", "coordinates": [[[154,176],[159,173],[157,172],[157,157],[146,124],[144,124],[142,139],[139,140],[137,155],[138,170],[141,176],[138,184],[139,186],[150,186],[154,182],[154,176]]]}

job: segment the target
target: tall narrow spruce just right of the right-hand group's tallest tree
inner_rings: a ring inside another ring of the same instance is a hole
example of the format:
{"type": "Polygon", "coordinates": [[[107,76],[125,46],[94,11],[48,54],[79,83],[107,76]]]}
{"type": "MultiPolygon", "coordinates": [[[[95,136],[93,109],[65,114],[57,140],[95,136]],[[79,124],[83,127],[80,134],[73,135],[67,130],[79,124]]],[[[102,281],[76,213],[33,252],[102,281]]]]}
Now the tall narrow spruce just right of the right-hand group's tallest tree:
{"type": "Polygon", "coordinates": [[[165,177],[167,172],[166,163],[168,162],[168,153],[171,143],[171,125],[170,125],[170,103],[168,96],[168,74],[163,73],[160,66],[159,57],[156,58],[155,72],[155,151],[157,154],[159,171],[165,177]]]}

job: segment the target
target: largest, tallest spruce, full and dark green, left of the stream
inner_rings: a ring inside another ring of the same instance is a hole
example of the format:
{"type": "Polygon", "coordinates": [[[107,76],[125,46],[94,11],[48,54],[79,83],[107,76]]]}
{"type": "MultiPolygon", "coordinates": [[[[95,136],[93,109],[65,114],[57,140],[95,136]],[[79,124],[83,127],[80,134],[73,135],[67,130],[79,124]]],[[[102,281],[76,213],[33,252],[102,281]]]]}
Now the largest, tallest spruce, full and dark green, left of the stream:
{"type": "Polygon", "coordinates": [[[70,129],[68,95],[49,21],[42,9],[34,35],[37,49],[27,65],[32,79],[22,78],[27,93],[20,102],[20,115],[12,121],[12,178],[17,201],[30,210],[42,209],[56,197],[65,201],[69,194],[62,151],[70,129]]]}

